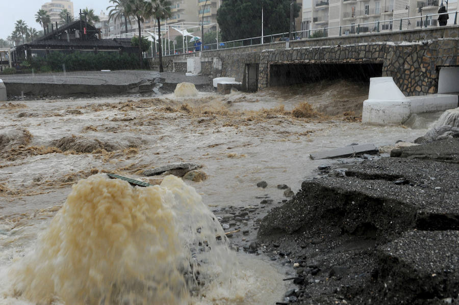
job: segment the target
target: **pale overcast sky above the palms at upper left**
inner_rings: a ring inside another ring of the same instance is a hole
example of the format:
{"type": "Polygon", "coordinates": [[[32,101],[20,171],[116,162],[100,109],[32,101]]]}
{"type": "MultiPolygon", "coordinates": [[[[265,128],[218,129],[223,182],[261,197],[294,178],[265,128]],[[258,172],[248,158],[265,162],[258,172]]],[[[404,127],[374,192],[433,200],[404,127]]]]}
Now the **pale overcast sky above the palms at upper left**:
{"type": "MultiPolygon", "coordinates": [[[[41,30],[40,24],[35,22],[35,14],[41,5],[50,2],[47,0],[0,0],[0,38],[6,39],[14,31],[14,23],[22,19],[30,27],[41,30]]],[[[96,15],[101,10],[106,11],[111,5],[109,0],[72,0],[73,14],[80,12],[80,9],[93,9],[96,15]]],[[[77,15],[78,16],[78,15],[77,15]]]]}

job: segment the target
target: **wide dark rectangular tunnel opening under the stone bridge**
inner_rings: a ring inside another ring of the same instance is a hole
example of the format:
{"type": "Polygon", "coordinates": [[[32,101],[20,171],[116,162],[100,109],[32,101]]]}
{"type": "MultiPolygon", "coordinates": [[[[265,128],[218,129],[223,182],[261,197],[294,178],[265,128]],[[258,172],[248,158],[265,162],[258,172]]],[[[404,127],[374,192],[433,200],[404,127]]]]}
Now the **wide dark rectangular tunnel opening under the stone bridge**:
{"type": "Polygon", "coordinates": [[[289,86],[320,80],[345,79],[369,82],[382,76],[382,63],[286,64],[270,66],[270,86],[289,86]]]}

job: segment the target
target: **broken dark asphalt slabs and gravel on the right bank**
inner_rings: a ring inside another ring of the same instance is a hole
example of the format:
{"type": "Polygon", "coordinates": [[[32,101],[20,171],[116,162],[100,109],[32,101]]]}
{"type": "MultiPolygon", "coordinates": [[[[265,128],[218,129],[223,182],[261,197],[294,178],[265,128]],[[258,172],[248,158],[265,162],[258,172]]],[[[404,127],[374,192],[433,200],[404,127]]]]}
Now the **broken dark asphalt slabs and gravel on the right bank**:
{"type": "Polygon", "coordinates": [[[293,270],[278,304],[458,303],[459,138],[328,171],[257,221],[249,249],[293,270]]]}

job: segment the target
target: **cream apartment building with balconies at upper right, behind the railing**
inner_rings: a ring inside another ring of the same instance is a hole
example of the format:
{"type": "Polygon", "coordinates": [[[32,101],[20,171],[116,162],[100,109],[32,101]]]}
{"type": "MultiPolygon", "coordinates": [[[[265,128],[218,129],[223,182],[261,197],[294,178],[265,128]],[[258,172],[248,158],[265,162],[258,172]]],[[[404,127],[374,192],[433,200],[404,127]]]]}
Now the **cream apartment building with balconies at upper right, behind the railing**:
{"type": "MultiPolygon", "coordinates": [[[[333,37],[437,26],[437,16],[431,14],[438,12],[441,1],[305,0],[302,9],[302,30],[308,30],[311,24],[310,29],[325,28],[326,35],[333,37]],[[415,16],[418,18],[405,19],[415,16]]],[[[446,1],[444,5],[446,6],[446,1]]],[[[456,9],[457,0],[449,1],[448,12],[456,9]]],[[[450,19],[449,22],[452,23],[454,17],[450,19]]]]}

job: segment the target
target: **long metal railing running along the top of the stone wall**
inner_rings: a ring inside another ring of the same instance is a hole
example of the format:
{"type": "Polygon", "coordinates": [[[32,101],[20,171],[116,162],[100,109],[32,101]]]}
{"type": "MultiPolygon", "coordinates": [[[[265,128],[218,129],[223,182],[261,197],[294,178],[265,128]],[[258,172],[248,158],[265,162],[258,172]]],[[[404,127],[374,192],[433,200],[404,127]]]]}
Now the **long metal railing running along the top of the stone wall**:
{"type": "MultiPolygon", "coordinates": [[[[428,26],[438,26],[437,18],[440,15],[453,15],[454,23],[457,24],[457,14],[459,11],[447,12],[442,14],[427,14],[422,16],[414,16],[400,19],[380,20],[372,22],[361,22],[357,24],[347,24],[340,26],[326,26],[319,29],[310,29],[304,31],[293,32],[294,40],[307,40],[314,38],[337,37],[337,36],[351,36],[360,35],[365,33],[380,33],[380,32],[397,32],[402,30],[415,30],[423,29],[428,26]],[[330,34],[332,33],[332,34],[330,34]],[[330,36],[329,36],[330,35],[330,36]]],[[[318,20],[318,19],[317,19],[318,20]]],[[[289,41],[289,33],[278,33],[273,35],[265,35],[263,37],[251,37],[245,39],[230,40],[224,42],[205,43],[196,50],[195,46],[188,44],[186,48],[176,48],[175,54],[190,53],[195,51],[217,50],[222,48],[236,48],[242,46],[261,45],[265,43],[274,43],[279,41],[289,41]]],[[[163,55],[173,55],[170,51],[163,51],[163,55]]]]}

